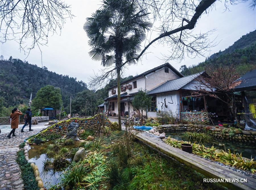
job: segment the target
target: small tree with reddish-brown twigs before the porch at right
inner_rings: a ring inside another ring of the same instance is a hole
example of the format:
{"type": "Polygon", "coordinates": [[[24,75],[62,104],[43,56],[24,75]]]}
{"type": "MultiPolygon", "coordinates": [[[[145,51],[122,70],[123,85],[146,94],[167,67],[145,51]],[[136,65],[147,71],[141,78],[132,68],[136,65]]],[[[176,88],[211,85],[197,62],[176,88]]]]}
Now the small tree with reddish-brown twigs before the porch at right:
{"type": "Polygon", "coordinates": [[[236,72],[233,65],[224,66],[220,64],[210,64],[206,66],[206,73],[196,78],[198,85],[194,95],[209,95],[214,97],[231,108],[231,113],[240,123],[238,117],[238,107],[234,94],[234,87],[241,83],[237,80],[240,75],[236,72]]]}

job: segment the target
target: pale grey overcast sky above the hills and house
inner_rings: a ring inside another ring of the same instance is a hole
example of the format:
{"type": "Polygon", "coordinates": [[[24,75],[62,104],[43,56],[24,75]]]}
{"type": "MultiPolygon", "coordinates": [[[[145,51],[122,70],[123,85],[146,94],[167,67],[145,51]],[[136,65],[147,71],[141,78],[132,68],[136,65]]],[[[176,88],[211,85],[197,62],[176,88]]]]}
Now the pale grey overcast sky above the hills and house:
{"type": "MultiPolygon", "coordinates": [[[[72,13],[76,17],[65,23],[61,35],[49,36],[48,46],[41,47],[43,66],[50,71],[77,77],[78,80],[88,83],[88,78],[97,73],[102,66],[100,66],[100,62],[91,60],[88,55],[90,47],[87,44],[88,38],[83,30],[83,24],[86,17],[90,17],[100,7],[101,2],[79,0],[66,2],[71,5],[72,13]]],[[[209,40],[215,39],[218,45],[210,49],[208,53],[210,55],[228,48],[242,35],[256,29],[256,9],[249,9],[248,3],[239,3],[229,8],[230,11],[224,11],[224,3],[217,1],[216,8],[209,14],[202,15],[196,24],[195,32],[216,29],[209,40]]],[[[17,42],[8,41],[1,44],[0,54],[5,59],[13,56],[13,58],[24,60],[27,55],[20,53],[18,48],[17,42]]],[[[162,54],[168,55],[169,53],[167,46],[157,43],[151,46],[147,52],[149,53],[143,57],[141,62],[125,70],[125,76],[140,74],[164,64],[162,54]]],[[[26,60],[30,64],[42,66],[41,53],[38,48],[32,50],[26,60]]],[[[175,61],[169,61],[169,63],[179,70],[181,65],[190,66],[204,60],[205,57],[186,58],[181,63],[175,61]]]]}

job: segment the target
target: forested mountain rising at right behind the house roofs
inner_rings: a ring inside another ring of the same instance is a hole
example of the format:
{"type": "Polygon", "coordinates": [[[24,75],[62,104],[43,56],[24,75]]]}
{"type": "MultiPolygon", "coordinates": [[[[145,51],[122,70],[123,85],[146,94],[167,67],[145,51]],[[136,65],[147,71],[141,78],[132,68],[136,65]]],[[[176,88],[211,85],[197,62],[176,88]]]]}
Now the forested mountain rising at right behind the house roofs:
{"type": "Polygon", "coordinates": [[[183,75],[191,75],[205,70],[207,64],[233,64],[241,75],[256,69],[256,30],[242,36],[226,50],[213,54],[205,62],[188,68],[183,65],[180,70],[183,75]]]}

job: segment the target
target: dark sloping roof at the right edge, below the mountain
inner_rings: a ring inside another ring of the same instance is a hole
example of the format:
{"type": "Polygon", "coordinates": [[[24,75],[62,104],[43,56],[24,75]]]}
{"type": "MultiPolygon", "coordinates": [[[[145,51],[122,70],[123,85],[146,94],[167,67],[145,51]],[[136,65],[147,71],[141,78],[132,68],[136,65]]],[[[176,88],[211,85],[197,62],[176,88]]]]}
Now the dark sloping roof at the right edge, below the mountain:
{"type": "Polygon", "coordinates": [[[238,81],[241,80],[241,83],[234,88],[235,91],[255,89],[256,88],[256,69],[252,71],[248,71],[237,80],[238,81]]]}

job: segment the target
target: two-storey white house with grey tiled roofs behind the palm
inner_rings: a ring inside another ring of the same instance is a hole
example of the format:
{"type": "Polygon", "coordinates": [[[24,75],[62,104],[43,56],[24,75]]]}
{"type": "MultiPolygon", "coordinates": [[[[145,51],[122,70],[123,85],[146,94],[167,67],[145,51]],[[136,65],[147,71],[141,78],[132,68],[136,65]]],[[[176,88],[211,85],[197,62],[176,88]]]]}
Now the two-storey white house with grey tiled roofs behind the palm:
{"type": "MultiPolygon", "coordinates": [[[[174,115],[180,111],[195,108],[190,102],[186,102],[182,97],[191,96],[191,90],[195,89],[195,78],[201,73],[183,77],[183,75],[172,67],[169,63],[160,65],[137,75],[121,83],[121,116],[128,111],[127,94],[135,95],[139,89],[146,90],[152,96],[151,107],[147,111],[148,118],[156,118],[157,112],[172,111],[174,115]]],[[[104,110],[109,116],[117,116],[117,87],[109,89],[108,97],[105,100],[104,110]]],[[[132,102],[133,97],[130,101],[132,102]]],[[[204,105],[204,102],[203,102],[204,105]]],[[[197,108],[201,109],[201,107],[197,108]]],[[[135,111],[130,103],[130,111],[135,111]]],[[[143,113],[143,115],[146,115],[143,113]]]]}

